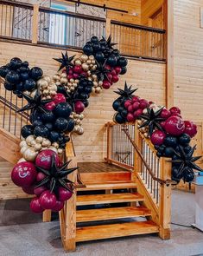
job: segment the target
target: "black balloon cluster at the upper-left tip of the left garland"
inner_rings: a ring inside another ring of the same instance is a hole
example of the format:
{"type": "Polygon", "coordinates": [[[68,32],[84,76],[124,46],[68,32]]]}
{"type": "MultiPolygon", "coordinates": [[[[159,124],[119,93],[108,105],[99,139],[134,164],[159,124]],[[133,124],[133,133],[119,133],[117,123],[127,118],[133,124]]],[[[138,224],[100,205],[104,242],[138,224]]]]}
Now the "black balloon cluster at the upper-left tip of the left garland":
{"type": "Polygon", "coordinates": [[[29,68],[29,62],[22,62],[15,57],[8,64],[0,68],[0,76],[5,79],[4,87],[13,91],[18,97],[22,97],[22,92],[33,91],[37,88],[36,81],[41,78],[43,72],[41,68],[29,68]]]}

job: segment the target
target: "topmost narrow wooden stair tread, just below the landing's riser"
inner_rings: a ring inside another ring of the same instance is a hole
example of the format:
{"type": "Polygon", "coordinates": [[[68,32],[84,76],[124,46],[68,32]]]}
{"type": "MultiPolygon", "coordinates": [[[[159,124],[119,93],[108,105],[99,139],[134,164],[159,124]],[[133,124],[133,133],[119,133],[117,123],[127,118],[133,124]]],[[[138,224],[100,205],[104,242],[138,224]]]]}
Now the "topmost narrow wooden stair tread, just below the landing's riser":
{"type": "Polygon", "coordinates": [[[136,184],[129,181],[86,184],[86,187],[79,187],[77,191],[122,189],[122,188],[136,188],[136,184]]]}

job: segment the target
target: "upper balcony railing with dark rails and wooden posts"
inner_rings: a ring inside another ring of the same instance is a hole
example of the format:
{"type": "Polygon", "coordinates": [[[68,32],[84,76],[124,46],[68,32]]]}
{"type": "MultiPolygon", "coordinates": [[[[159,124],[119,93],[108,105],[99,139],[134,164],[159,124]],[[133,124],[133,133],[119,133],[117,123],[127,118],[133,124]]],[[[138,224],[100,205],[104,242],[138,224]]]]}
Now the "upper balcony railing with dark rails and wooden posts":
{"type": "Polygon", "coordinates": [[[53,10],[39,5],[0,0],[0,37],[81,49],[92,36],[112,36],[121,54],[166,60],[166,31],[120,23],[109,18],[53,10]]]}

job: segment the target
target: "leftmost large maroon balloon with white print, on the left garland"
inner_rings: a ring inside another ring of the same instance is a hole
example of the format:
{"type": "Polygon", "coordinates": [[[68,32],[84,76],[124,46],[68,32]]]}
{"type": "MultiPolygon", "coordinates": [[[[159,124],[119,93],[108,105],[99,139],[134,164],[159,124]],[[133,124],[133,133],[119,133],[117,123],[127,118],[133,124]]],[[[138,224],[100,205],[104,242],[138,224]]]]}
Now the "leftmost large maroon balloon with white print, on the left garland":
{"type": "Polygon", "coordinates": [[[13,167],[11,179],[19,187],[30,187],[36,179],[36,168],[32,162],[22,161],[13,167]]]}

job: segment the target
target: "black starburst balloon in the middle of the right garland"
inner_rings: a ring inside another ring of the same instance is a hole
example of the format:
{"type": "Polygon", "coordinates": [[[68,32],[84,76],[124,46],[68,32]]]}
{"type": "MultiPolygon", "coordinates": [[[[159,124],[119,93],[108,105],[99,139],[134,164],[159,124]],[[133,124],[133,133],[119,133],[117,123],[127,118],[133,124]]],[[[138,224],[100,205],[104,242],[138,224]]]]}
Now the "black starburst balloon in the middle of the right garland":
{"type": "Polygon", "coordinates": [[[162,108],[154,111],[153,108],[147,108],[147,114],[140,115],[139,118],[143,118],[144,121],[143,124],[139,128],[149,127],[149,135],[151,136],[155,128],[163,131],[162,126],[160,125],[161,121],[164,121],[165,119],[160,117],[162,113],[162,108]]]}

